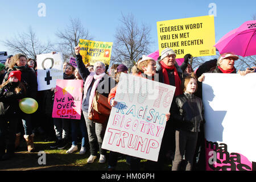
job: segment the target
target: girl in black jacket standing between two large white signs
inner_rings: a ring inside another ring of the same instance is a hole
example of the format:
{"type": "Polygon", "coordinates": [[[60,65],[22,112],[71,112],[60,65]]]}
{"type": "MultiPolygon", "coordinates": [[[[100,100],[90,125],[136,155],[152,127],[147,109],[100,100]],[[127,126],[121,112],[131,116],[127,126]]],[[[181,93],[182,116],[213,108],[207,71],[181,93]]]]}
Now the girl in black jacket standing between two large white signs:
{"type": "Polygon", "coordinates": [[[196,78],[185,77],[182,86],[184,93],[176,98],[171,112],[171,118],[176,122],[176,150],[172,171],[179,171],[183,155],[185,155],[186,171],[192,170],[200,123],[204,122],[203,102],[194,95],[197,89],[196,78]]]}

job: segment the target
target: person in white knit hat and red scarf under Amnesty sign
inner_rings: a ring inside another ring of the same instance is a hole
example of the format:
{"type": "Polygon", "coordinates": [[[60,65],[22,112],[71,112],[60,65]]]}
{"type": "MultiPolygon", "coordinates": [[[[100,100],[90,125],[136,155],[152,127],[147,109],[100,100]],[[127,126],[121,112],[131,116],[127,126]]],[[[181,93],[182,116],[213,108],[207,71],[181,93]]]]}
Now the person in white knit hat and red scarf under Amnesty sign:
{"type": "MultiPolygon", "coordinates": [[[[156,63],[156,76],[159,76],[159,82],[164,84],[176,86],[175,89],[175,97],[183,94],[181,90],[181,79],[182,79],[182,71],[179,67],[176,67],[176,53],[171,48],[166,48],[162,51],[160,55],[160,62],[156,63]]],[[[173,99],[174,105],[175,98],[173,99]]],[[[172,109],[170,109],[172,110],[172,109]]],[[[167,156],[171,156],[175,152],[175,126],[172,121],[168,121],[166,123],[166,128],[164,130],[164,135],[162,139],[162,144],[159,151],[158,162],[148,161],[147,169],[148,170],[162,170],[163,164],[166,163],[170,158],[167,156]]]]}

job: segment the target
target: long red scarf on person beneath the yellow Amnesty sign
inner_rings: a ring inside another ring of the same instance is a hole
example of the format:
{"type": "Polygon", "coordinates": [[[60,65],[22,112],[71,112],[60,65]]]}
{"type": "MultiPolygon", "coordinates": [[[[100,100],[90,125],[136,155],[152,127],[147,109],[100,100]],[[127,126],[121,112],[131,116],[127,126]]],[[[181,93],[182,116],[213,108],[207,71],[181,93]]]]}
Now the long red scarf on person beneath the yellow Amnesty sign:
{"type": "Polygon", "coordinates": [[[163,61],[160,61],[161,67],[162,67],[162,72],[163,72],[163,77],[164,77],[164,84],[168,84],[170,85],[170,81],[169,81],[169,77],[168,77],[168,73],[166,69],[174,69],[174,79],[175,79],[175,96],[179,96],[180,94],[182,94],[182,90],[181,90],[181,81],[180,81],[180,77],[177,73],[177,69],[175,68],[175,66],[172,67],[168,67],[166,64],[163,63],[163,61]]]}

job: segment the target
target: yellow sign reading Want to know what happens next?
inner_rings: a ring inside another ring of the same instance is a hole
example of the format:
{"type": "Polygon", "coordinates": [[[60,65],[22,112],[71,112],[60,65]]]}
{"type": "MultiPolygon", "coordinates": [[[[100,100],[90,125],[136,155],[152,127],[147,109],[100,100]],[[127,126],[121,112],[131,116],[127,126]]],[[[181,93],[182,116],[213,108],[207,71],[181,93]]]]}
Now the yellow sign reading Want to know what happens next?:
{"type": "Polygon", "coordinates": [[[109,64],[112,42],[98,42],[92,40],[79,40],[80,55],[84,64],[90,63],[93,65],[97,61],[101,61],[104,64],[109,64]]]}

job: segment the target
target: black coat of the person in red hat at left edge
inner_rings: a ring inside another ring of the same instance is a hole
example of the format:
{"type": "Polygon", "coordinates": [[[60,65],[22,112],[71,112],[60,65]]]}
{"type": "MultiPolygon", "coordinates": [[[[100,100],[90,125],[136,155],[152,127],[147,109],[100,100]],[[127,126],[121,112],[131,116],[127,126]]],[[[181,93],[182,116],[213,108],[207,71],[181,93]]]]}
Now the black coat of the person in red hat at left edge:
{"type": "Polygon", "coordinates": [[[10,115],[11,117],[20,114],[19,101],[24,98],[25,92],[21,90],[19,93],[14,92],[18,84],[9,82],[0,89],[0,115],[10,115]]]}

